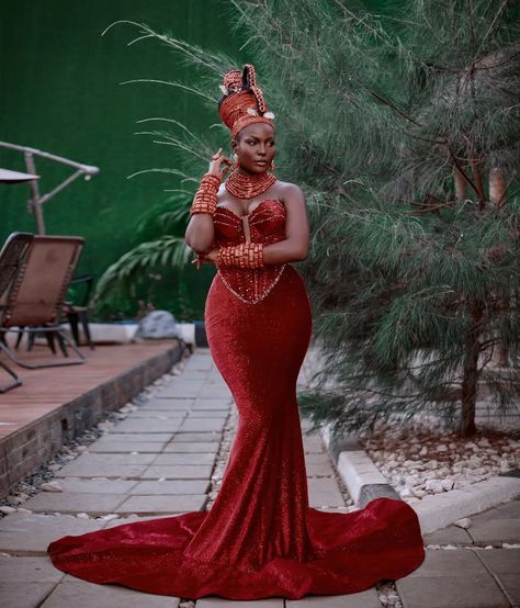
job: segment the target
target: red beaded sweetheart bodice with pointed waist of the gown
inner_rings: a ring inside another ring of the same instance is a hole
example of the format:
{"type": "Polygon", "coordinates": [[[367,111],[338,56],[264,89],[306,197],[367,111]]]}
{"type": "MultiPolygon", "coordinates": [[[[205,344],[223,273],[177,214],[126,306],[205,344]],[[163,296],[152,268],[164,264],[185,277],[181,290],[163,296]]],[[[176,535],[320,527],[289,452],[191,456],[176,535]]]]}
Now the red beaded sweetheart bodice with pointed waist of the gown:
{"type": "MultiPolygon", "coordinates": [[[[234,211],[217,205],[213,218],[217,247],[238,245],[247,240],[247,227],[252,243],[264,246],[285,238],[285,206],[280,201],[268,199],[250,213],[240,217],[234,211]]],[[[286,264],[265,264],[262,268],[217,267],[226,288],[242,302],[257,304],[262,301],[280,280],[286,264]]]]}

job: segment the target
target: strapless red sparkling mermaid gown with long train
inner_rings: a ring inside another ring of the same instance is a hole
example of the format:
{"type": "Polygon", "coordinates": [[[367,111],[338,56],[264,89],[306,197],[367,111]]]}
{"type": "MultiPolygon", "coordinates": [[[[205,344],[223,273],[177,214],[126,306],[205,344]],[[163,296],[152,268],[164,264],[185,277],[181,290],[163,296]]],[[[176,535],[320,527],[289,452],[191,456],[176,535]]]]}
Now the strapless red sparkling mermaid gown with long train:
{"type": "MultiPolygon", "coordinates": [[[[285,207],[249,214],[250,238],[285,238],[285,207]]],[[[240,217],[217,207],[217,245],[245,240],[240,217]]],[[[196,599],[339,595],[396,579],[423,558],[406,503],[376,498],[350,514],[308,506],[296,380],[310,340],[308,295],[289,263],[218,269],[204,320],[210,350],[238,409],[238,428],[210,511],[65,537],[56,567],[92,583],[196,599]]]]}

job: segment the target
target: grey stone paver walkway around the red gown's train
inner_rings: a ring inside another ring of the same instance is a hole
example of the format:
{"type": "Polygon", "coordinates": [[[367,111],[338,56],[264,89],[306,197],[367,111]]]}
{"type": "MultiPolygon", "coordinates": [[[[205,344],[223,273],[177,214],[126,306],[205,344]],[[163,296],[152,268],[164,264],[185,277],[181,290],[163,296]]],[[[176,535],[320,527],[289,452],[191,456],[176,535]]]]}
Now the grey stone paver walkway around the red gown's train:
{"type": "MultiPolygon", "coordinates": [[[[197,349],[180,375],[56,473],[63,492],[41,492],[23,505],[27,511],[19,509],[0,520],[0,606],[384,606],[375,588],[299,600],[205,597],[180,605],[179,598],[83,583],[53,567],[45,550],[61,536],[207,508],[212,485],[218,484],[222,473],[217,455],[233,408],[208,350],[197,349]]],[[[347,511],[344,491],[321,438],[304,435],[304,444],[312,506],[347,511]]],[[[520,607],[520,500],[471,519],[467,530],[450,526],[425,537],[425,563],[396,583],[403,608],[520,607]]]]}

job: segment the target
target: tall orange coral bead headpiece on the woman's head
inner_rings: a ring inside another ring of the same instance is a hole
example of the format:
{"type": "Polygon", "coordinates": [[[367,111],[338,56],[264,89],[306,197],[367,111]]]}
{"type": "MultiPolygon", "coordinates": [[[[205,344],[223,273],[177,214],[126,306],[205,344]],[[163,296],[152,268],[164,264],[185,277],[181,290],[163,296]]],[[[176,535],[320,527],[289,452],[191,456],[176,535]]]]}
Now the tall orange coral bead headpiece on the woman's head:
{"type": "Polygon", "coordinates": [[[242,71],[231,69],[224,76],[221,87],[224,99],[218,113],[231,136],[253,123],[267,123],[274,128],[274,114],[268,112],[261,89],[257,86],[255,67],[246,64],[242,71]]]}

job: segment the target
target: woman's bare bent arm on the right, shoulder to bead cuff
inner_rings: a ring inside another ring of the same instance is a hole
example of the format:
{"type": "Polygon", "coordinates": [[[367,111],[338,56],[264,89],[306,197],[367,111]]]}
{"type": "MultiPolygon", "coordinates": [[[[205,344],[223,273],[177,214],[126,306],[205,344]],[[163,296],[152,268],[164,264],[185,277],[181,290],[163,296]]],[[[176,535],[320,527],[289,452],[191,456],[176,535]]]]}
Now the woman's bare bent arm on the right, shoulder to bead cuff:
{"type": "Polygon", "coordinates": [[[305,196],[301,188],[287,183],[283,193],[287,212],[285,239],[263,248],[263,263],[286,263],[304,260],[308,254],[309,227],[305,196]]]}

